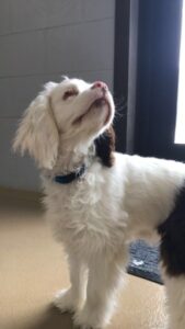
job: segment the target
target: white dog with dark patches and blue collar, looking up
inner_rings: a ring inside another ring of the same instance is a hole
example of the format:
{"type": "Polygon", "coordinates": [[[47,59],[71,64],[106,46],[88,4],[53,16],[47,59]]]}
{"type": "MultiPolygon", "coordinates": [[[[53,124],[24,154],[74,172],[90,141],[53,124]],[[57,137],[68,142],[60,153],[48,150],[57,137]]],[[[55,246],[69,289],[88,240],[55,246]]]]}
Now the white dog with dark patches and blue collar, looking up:
{"type": "Polygon", "coordinates": [[[26,110],[13,148],[42,172],[47,217],[68,256],[71,286],[55,305],[77,326],[111,320],[136,239],[160,241],[169,329],[185,328],[185,164],[115,151],[108,87],[65,77],[26,110]]]}

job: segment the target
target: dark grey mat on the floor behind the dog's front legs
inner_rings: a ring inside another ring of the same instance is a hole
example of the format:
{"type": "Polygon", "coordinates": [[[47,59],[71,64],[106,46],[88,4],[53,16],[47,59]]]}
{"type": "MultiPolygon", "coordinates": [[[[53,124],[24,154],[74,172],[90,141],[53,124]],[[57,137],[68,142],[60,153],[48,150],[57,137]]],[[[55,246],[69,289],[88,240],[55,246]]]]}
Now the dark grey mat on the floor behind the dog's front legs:
{"type": "Polygon", "coordinates": [[[142,241],[131,243],[128,273],[162,284],[159,271],[159,248],[142,241]]]}

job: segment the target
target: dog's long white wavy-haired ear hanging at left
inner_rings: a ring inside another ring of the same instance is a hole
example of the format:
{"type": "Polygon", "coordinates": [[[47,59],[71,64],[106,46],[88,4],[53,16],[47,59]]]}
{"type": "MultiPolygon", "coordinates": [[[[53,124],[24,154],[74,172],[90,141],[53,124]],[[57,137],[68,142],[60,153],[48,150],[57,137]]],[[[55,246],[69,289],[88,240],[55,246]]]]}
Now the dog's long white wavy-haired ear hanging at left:
{"type": "MultiPolygon", "coordinates": [[[[50,84],[45,89],[50,89],[50,84]]],[[[13,149],[20,150],[22,155],[28,151],[38,167],[51,169],[58,155],[59,136],[46,90],[25,111],[13,149]]]]}

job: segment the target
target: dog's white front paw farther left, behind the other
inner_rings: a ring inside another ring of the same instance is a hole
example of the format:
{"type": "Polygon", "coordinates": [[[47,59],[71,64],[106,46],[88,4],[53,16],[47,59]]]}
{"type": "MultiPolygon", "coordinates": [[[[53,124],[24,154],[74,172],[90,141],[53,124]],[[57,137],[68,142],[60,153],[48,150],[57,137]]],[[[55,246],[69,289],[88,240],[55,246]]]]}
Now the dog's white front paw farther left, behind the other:
{"type": "Polygon", "coordinates": [[[69,290],[61,290],[59,291],[54,298],[54,305],[59,308],[62,313],[70,311],[74,313],[78,308],[78,303],[72,297],[71,291],[69,290]]]}

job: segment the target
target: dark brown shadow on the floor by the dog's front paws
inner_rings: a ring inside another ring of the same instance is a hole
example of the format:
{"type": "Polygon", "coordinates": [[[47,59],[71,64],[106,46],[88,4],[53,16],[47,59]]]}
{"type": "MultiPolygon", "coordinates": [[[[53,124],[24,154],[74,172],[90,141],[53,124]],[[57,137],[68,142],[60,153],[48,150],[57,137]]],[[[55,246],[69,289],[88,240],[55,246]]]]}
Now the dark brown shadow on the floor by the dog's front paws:
{"type": "Polygon", "coordinates": [[[31,320],[20,329],[73,329],[71,315],[61,314],[56,307],[48,306],[35,320],[31,320]]]}

